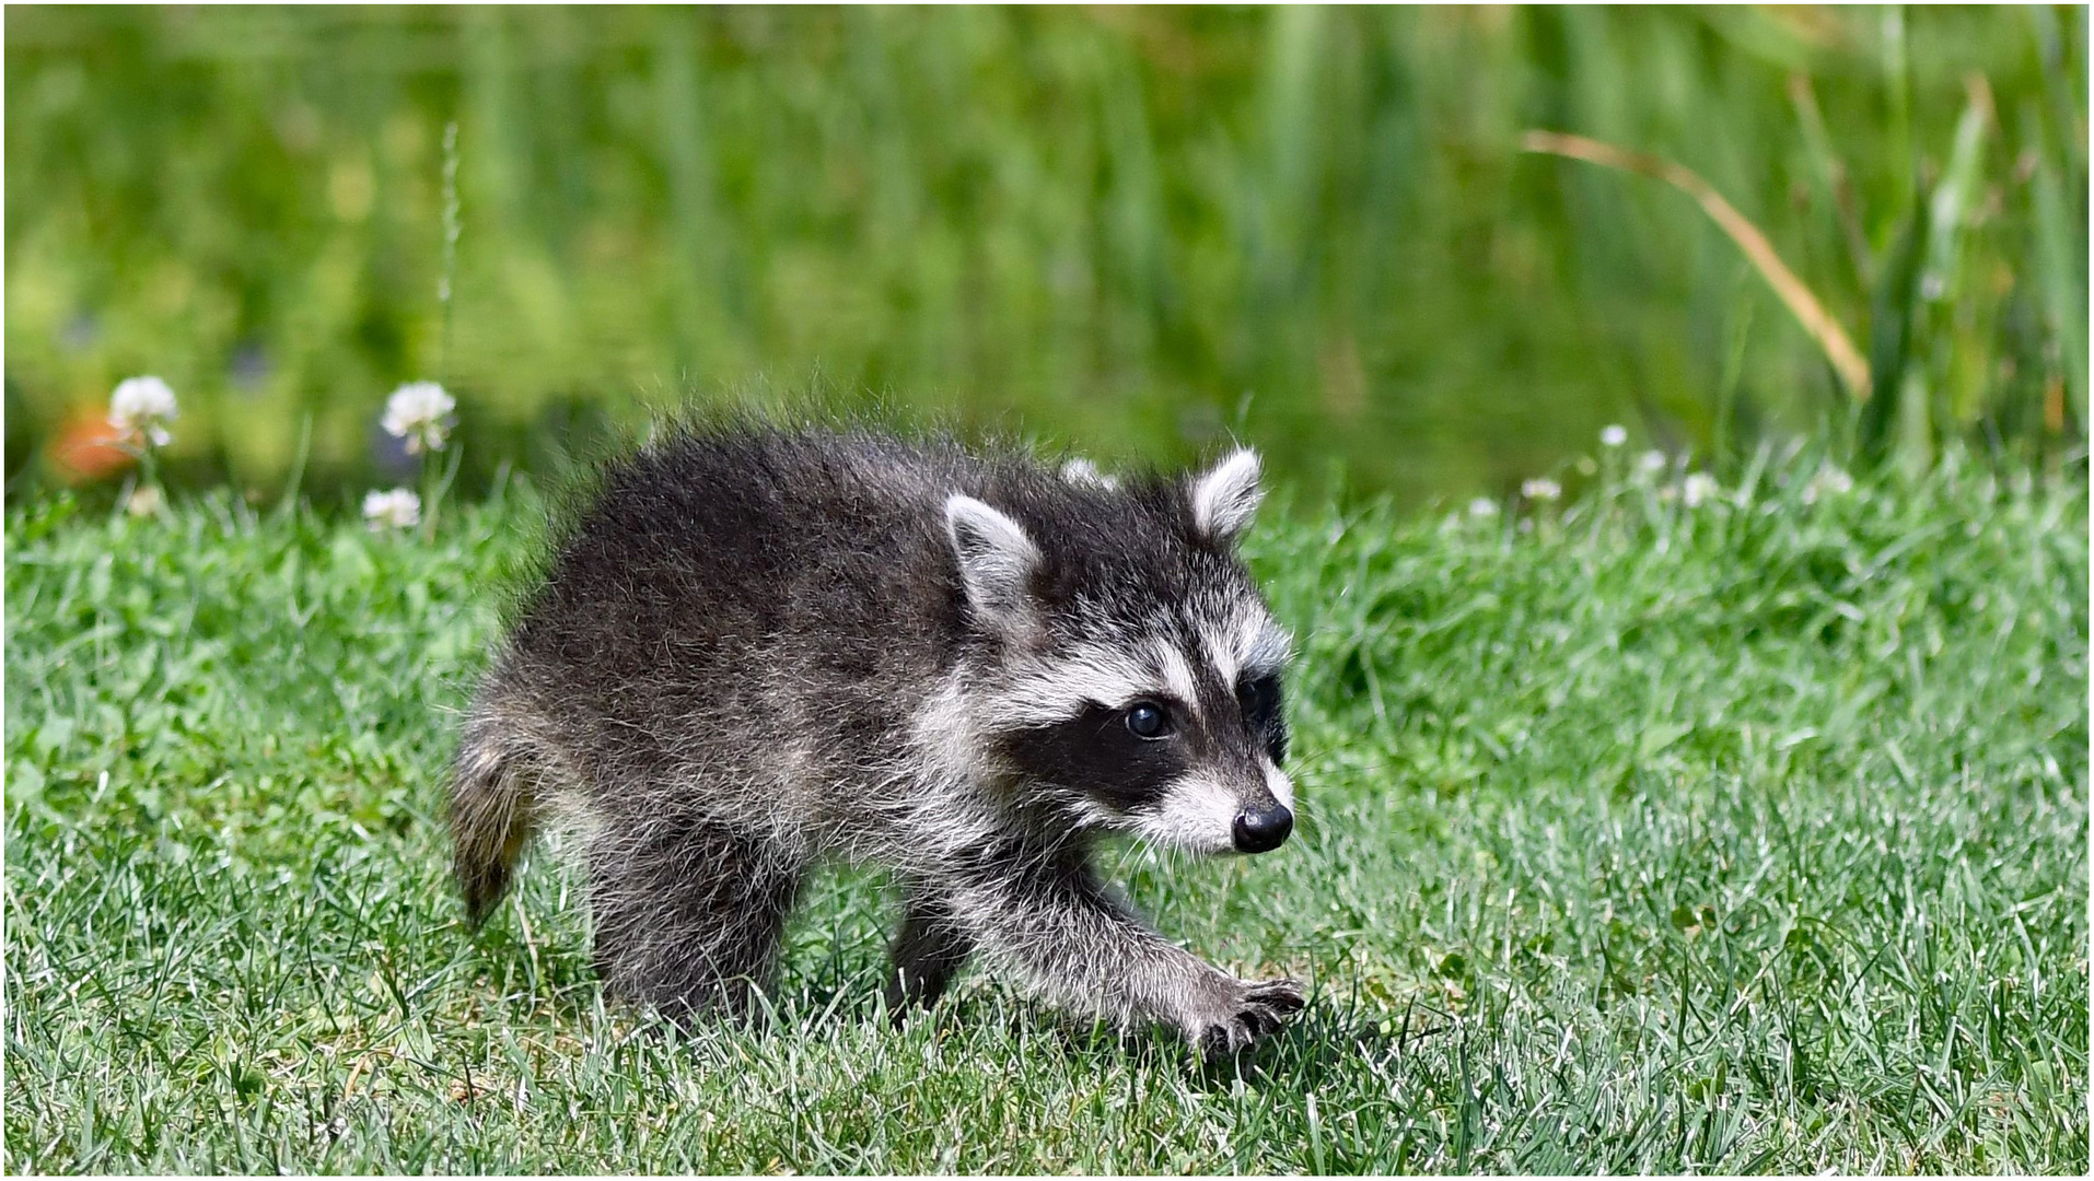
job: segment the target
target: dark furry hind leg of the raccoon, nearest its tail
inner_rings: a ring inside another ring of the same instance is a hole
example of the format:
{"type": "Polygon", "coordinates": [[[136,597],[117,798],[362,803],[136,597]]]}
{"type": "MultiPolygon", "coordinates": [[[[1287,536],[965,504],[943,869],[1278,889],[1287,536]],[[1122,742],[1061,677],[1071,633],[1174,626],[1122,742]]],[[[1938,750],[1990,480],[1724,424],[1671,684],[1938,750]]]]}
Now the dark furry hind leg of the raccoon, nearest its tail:
{"type": "Polygon", "coordinates": [[[607,825],[588,854],[597,974],[681,1026],[745,1016],[777,967],[802,865],[708,821],[607,825]]]}

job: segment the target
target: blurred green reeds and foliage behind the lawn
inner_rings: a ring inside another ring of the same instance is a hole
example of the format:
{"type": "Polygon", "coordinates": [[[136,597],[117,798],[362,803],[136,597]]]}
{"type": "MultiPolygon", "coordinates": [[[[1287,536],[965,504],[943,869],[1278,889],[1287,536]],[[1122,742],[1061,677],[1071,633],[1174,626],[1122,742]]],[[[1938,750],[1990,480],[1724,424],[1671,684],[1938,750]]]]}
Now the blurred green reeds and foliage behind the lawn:
{"type": "Polygon", "coordinates": [[[425,377],[467,490],[810,396],[1407,500],[1610,421],[2084,463],[2086,46],[2086,8],[10,6],[8,490],[134,373],[182,396],[174,482],[253,494],[381,477],[425,377]],[[1694,201],[1529,128],[1707,178],[1874,398],[1694,201]]]}

